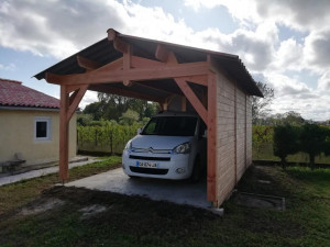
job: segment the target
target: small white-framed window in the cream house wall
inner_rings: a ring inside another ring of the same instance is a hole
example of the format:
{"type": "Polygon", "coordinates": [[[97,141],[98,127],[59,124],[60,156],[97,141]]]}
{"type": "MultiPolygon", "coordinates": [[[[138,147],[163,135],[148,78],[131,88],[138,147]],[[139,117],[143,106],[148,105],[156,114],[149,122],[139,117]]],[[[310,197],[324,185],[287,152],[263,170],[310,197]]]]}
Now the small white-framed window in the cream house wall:
{"type": "Polygon", "coordinates": [[[52,139],[52,121],[48,116],[36,116],[34,119],[34,139],[51,141],[52,139]]]}

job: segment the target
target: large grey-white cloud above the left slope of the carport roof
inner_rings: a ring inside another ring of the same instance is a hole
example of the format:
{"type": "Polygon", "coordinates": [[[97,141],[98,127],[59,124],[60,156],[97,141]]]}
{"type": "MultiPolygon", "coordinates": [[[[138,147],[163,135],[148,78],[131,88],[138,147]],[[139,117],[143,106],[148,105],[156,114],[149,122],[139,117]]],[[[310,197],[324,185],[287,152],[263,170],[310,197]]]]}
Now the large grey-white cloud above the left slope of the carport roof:
{"type": "Polygon", "coordinates": [[[121,29],[128,18],[117,1],[12,1],[0,3],[0,45],[63,58],[121,29]]]}

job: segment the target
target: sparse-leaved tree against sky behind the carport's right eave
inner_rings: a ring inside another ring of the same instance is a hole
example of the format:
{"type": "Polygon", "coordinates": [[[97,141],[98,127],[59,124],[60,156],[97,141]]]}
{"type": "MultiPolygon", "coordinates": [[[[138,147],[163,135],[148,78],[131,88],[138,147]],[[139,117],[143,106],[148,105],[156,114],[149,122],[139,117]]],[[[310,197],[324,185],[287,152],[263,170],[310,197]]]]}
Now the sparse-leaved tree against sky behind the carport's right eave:
{"type": "Polygon", "coordinates": [[[261,81],[256,86],[263,93],[264,98],[252,97],[252,122],[255,124],[258,119],[265,117],[270,113],[270,104],[274,99],[274,89],[261,81]]]}

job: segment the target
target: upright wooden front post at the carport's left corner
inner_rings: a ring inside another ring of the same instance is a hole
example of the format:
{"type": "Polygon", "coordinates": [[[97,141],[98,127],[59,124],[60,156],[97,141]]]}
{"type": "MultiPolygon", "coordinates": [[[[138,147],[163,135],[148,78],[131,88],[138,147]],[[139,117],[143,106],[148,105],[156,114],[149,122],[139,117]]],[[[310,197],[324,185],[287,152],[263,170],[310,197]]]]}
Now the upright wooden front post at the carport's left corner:
{"type": "Polygon", "coordinates": [[[69,98],[66,86],[61,86],[59,101],[59,178],[64,182],[68,178],[68,103],[69,98]]]}

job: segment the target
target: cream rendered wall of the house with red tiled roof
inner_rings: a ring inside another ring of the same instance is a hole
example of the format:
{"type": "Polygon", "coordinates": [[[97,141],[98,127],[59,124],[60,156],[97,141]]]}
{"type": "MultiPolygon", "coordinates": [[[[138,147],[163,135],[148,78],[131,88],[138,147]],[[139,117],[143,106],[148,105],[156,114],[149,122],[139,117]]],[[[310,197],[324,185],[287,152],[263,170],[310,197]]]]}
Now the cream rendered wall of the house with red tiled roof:
{"type": "MultiPolygon", "coordinates": [[[[58,160],[59,154],[59,113],[33,110],[0,110],[0,162],[12,160],[15,153],[21,153],[32,166],[58,160]],[[34,120],[48,116],[52,120],[51,141],[34,139],[34,120]]],[[[76,156],[77,145],[76,114],[69,124],[69,158],[76,156]]]]}

